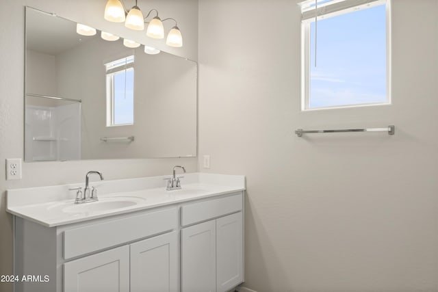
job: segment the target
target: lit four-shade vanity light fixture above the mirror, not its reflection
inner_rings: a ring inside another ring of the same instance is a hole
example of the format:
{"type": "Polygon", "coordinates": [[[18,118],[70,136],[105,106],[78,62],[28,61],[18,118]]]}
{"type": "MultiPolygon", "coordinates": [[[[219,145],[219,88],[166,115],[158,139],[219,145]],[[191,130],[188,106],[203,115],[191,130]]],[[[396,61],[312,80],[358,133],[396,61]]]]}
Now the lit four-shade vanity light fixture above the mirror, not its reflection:
{"type": "MultiPolygon", "coordinates": [[[[107,21],[112,21],[120,23],[125,21],[125,27],[133,30],[144,30],[144,23],[148,24],[146,29],[146,36],[149,38],[163,39],[164,38],[164,21],[172,20],[174,18],[165,18],[161,20],[158,16],[158,11],[156,9],[149,10],[146,17],[138,7],[138,0],[136,0],[136,5],[134,5],[129,12],[125,9],[123,0],[108,0],[105,6],[104,18],[107,21]],[[146,21],[151,12],[155,12],[157,15],[150,21],[146,21]],[[126,16],[126,17],[125,17],[126,16]]],[[[175,21],[175,26],[170,29],[168,36],[166,38],[166,44],[170,47],[183,47],[183,37],[181,31],[177,26],[177,21],[175,21]]]]}

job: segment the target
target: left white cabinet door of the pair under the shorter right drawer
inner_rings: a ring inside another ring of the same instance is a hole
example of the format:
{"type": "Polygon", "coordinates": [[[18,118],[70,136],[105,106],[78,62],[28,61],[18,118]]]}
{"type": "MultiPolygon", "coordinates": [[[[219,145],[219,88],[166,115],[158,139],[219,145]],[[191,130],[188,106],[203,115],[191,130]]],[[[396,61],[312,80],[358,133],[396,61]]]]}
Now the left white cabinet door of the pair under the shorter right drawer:
{"type": "Polygon", "coordinates": [[[181,229],[181,292],[216,291],[216,220],[181,229]]]}

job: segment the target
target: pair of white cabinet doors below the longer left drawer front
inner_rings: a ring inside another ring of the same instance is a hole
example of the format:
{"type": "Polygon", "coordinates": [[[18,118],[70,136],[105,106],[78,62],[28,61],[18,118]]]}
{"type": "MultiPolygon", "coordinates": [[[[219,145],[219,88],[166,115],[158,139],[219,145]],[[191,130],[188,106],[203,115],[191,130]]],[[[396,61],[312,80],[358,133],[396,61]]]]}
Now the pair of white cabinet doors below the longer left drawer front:
{"type": "Polygon", "coordinates": [[[178,232],[64,264],[64,292],[178,291],[178,232]]]}

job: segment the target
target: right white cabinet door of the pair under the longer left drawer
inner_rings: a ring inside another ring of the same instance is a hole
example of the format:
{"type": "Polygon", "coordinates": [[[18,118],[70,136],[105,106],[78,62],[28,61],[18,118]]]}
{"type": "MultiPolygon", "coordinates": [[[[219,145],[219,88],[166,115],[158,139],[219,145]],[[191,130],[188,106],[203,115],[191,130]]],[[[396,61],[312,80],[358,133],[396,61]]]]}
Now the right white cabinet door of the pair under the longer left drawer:
{"type": "Polygon", "coordinates": [[[178,291],[178,232],[131,244],[131,292],[178,291]]]}

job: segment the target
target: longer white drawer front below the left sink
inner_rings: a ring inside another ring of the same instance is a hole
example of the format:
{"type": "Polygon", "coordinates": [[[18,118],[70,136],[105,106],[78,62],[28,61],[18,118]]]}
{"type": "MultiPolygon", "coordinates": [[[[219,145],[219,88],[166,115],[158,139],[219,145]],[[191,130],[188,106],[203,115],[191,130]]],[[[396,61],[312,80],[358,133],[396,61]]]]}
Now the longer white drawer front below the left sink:
{"type": "Polygon", "coordinates": [[[178,228],[177,207],[69,229],[64,231],[64,259],[176,228],[178,228]]]}

